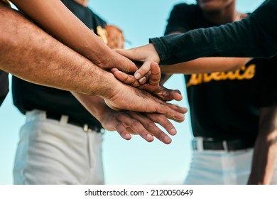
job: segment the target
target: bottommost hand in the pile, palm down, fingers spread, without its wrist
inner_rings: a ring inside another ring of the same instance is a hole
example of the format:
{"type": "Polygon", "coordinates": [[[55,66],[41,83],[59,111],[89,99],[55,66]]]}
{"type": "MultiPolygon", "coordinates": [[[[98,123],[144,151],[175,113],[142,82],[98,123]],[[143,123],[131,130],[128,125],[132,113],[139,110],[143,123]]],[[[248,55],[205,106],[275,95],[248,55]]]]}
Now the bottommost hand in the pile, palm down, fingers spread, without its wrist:
{"type": "Polygon", "coordinates": [[[102,127],[109,131],[117,131],[126,140],[131,139],[131,134],[138,134],[146,141],[153,141],[154,137],[165,144],[170,144],[172,139],[159,129],[155,123],[160,124],[170,135],[175,135],[176,130],[168,119],[162,114],[143,114],[139,112],[114,111],[107,107],[106,112],[99,119],[102,127]]]}

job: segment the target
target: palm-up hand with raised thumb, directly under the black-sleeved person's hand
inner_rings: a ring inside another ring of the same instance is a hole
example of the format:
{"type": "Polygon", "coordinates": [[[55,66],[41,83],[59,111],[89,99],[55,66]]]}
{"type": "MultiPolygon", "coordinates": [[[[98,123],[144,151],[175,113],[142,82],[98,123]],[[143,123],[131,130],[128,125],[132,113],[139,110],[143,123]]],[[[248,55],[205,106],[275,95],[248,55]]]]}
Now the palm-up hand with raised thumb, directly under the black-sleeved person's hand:
{"type": "MultiPolygon", "coordinates": [[[[161,80],[161,70],[158,66],[158,63],[151,63],[150,67],[151,70],[148,72],[148,77],[144,76],[144,79],[146,80],[147,78],[149,78],[146,84],[141,84],[142,81],[139,82],[139,80],[136,80],[136,78],[133,75],[128,75],[124,72],[119,71],[116,68],[113,68],[111,72],[121,82],[124,82],[125,84],[131,85],[133,87],[138,87],[141,90],[151,92],[153,95],[155,95],[159,99],[162,99],[163,101],[171,101],[173,99],[177,101],[182,100],[183,97],[180,94],[179,90],[169,90],[163,87],[163,85],[160,85],[159,82],[161,80]]],[[[143,80],[143,78],[141,78],[141,80],[143,80]]]]}

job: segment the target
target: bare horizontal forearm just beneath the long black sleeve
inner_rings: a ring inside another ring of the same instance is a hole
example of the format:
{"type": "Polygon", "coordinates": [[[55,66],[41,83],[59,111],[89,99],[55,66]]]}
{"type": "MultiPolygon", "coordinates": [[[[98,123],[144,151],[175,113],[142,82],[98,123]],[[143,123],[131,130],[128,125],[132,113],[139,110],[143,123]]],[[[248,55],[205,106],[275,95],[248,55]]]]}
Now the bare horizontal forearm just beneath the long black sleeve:
{"type": "Polygon", "coordinates": [[[165,74],[192,74],[237,70],[251,58],[198,58],[174,65],[161,65],[165,74]]]}

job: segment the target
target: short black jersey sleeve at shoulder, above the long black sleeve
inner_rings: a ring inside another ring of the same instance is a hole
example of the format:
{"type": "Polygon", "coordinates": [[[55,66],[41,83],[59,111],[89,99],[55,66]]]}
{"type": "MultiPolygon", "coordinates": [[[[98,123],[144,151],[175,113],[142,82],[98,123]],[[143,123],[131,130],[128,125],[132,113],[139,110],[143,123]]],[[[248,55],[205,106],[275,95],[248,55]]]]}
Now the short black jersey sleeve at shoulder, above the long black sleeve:
{"type": "Polygon", "coordinates": [[[175,5],[168,18],[168,24],[165,28],[165,36],[172,32],[185,33],[190,30],[188,25],[189,13],[190,6],[188,4],[175,5]]]}

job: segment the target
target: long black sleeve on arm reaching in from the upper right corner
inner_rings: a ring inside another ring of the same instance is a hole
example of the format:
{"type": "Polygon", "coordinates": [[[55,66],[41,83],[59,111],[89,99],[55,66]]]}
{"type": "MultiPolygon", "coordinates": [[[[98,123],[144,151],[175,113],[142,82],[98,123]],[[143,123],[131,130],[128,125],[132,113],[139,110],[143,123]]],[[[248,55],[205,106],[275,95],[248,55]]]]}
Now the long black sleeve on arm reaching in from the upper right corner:
{"type": "Polygon", "coordinates": [[[277,53],[277,1],[267,0],[248,18],[219,27],[152,38],[162,65],[200,57],[270,58],[277,53]]]}

